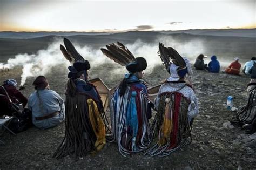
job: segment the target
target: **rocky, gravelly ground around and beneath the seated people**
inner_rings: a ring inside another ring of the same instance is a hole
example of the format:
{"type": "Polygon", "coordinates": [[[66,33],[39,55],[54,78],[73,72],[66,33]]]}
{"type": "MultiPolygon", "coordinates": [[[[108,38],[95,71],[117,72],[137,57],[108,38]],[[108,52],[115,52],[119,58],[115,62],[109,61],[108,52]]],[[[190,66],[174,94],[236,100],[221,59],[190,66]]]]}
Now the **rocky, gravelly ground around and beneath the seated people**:
{"type": "MultiPolygon", "coordinates": [[[[59,67],[46,75],[51,89],[63,98],[68,79],[66,73],[64,67],[59,67]]],[[[92,69],[91,77],[99,76],[107,86],[113,87],[122,79],[121,73],[124,73],[122,69],[113,70],[113,64],[105,64],[92,69]]],[[[1,82],[8,78],[20,82],[21,68],[0,72],[0,75],[1,82]]],[[[151,73],[145,72],[145,80],[150,86],[157,85],[166,77],[168,74],[161,66],[154,67],[151,73]]],[[[26,81],[23,91],[26,96],[33,91],[32,81],[33,78],[26,81]]],[[[227,96],[234,97],[235,107],[246,104],[249,81],[246,76],[194,70],[194,89],[200,113],[193,123],[192,143],[168,157],[123,157],[116,144],[107,143],[96,155],[56,160],[52,155],[64,137],[65,124],[62,123],[48,130],[32,127],[16,136],[4,133],[1,139],[6,145],[0,146],[0,169],[255,169],[256,134],[248,135],[229,125],[228,120],[235,112],[226,108],[227,96]]]]}

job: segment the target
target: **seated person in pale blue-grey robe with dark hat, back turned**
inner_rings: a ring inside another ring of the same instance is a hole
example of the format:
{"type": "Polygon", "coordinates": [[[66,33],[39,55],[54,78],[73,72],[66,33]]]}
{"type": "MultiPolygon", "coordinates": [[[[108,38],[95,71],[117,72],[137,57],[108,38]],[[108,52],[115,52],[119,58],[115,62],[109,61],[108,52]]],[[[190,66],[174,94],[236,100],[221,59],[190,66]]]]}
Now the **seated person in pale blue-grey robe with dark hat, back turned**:
{"type": "Polygon", "coordinates": [[[36,91],[30,95],[28,101],[33,125],[46,129],[62,123],[65,119],[63,99],[58,93],[49,89],[48,81],[44,76],[38,76],[33,85],[36,91]]]}

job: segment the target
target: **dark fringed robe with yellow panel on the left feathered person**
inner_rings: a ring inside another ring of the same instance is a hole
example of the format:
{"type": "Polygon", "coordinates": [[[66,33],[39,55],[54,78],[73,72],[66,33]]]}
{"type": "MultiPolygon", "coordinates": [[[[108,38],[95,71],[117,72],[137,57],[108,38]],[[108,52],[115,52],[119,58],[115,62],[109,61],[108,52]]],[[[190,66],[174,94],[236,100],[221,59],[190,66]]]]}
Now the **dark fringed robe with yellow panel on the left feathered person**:
{"type": "Polygon", "coordinates": [[[66,95],[65,137],[53,157],[65,155],[83,157],[103,148],[105,139],[105,113],[102,101],[92,84],[76,79],[77,93],[66,95]]]}

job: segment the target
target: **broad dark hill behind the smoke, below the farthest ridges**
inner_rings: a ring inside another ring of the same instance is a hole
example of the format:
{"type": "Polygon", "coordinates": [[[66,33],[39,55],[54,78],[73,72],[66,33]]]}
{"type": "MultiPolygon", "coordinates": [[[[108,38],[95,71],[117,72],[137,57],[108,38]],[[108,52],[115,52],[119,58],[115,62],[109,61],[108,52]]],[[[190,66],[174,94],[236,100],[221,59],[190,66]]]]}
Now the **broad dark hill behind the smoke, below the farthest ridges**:
{"type": "MultiPolygon", "coordinates": [[[[191,31],[195,32],[196,30],[191,31]]],[[[213,34],[214,30],[210,32],[213,34]]],[[[217,55],[229,58],[229,60],[233,60],[234,57],[240,57],[245,62],[251,57],[256,56],[256,37],[213,36],[205,34],[205,32],[200,32],[200,35],[198,35],[196,33],[178,31],[176,33],[167,31],[129,31],[99,35],[48,35],[29,39],[0,38],[0,62],[6,62],[8,58],[12,58],[18,53],[36,53],[38,50],[46,49],[56,39],[62,41],[63,37],[67,37],[74,44],[79,44],[80,46],[87,45],[97,50],[113,42],[119,41],[124,44],[133,44],[140,39],[144,45],[146,43],[147,45],[154,46],[156,50],[158,43],[163,42],[166,45],[178,48],[186,56],[191,57],[204,53],[208,56],[217,55]]]]}

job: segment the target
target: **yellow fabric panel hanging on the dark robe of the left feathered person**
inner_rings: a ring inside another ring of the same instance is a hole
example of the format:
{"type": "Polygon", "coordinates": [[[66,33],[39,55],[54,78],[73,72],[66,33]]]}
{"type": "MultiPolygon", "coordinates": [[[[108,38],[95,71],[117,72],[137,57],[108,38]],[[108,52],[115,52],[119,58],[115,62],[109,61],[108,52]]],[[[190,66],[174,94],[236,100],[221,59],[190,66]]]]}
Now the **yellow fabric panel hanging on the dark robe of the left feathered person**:
{"type": "Polygon", "coordinates": [[[89,107],[89,118],[92,125],[93,132],[95,133],[97,140],[95,142],[95,147],[97,151],[103,148],[106,144],[106,130],[105,124],[100,117],[100,113],[98,111],[97,104],[92,99],[87,100],[88,107],[89,107]]]}

